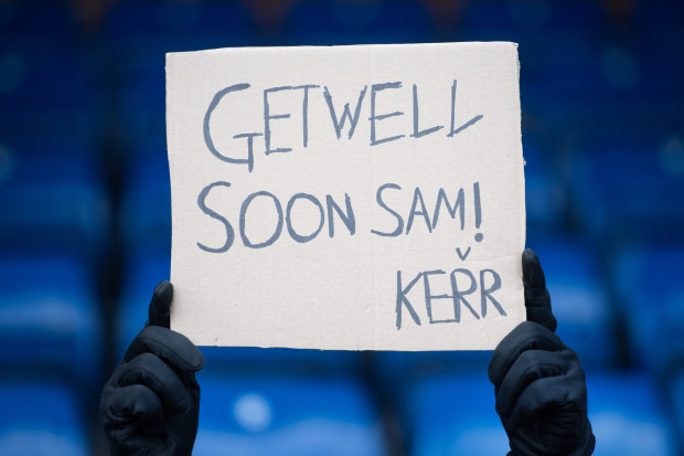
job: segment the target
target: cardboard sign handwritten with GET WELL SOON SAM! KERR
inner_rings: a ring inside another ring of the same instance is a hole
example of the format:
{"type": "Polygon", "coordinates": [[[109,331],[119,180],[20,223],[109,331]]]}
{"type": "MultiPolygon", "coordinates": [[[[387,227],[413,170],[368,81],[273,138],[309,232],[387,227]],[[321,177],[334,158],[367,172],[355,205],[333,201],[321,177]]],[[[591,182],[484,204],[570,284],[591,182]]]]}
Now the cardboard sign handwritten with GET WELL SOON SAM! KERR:
{"type": "Polygon", "coordinates": [[[172,328],[493,349],[525,319],[517,47],[167,55],[172,328]]]}

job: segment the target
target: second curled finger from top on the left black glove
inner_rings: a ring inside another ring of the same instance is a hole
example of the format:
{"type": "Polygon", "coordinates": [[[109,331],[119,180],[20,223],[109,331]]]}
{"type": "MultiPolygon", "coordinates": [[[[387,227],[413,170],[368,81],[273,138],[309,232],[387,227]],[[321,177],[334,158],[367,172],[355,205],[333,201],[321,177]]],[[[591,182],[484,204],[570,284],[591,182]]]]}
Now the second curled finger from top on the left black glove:
{"type": "Polygon", "coordinates": [[[184,413],[193,404],[181,379],[152,353],[142,353],[122,364],[117,371],[115,372],[117,386],[143,384],[161,399],[170,412],[184,413]]]}

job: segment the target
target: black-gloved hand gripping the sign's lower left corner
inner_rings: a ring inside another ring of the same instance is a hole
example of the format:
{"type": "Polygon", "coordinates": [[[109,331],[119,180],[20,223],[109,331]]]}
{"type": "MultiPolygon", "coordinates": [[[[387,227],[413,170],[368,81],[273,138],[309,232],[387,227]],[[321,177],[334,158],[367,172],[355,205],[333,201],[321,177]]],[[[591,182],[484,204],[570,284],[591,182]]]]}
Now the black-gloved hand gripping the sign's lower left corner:
{"type": "Polygon", "coordinates": [[[204,356],[169,329],[173,287],[162,282],[149,320],[103,388],[99,421],[118,455],[190,455],[197,434],[204,356]]]}

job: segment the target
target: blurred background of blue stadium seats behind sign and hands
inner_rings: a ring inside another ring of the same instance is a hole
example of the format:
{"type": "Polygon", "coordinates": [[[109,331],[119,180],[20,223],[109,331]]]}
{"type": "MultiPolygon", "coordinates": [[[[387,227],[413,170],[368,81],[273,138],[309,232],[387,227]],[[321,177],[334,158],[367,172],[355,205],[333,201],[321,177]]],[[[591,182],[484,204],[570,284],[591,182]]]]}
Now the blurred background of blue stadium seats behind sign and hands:
{"type": "MultiPolygon", "coordinates": [[[[683,24],[674,0],[0,0],[0,454],[106,454],[99,389],[170,271],[165,52],[500,40],[596,454],[684,454],[683,24]]],[[[203,351],[196,455],[507,449],[491,352],[203,351]]]]}

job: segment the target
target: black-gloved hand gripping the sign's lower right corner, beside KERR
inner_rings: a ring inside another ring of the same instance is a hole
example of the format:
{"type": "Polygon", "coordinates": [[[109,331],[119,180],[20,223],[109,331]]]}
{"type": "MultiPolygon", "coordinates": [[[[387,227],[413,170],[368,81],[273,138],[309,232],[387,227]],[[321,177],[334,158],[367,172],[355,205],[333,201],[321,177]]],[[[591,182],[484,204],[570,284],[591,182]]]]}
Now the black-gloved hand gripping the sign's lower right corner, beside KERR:
{"type": "Polygon", "coordinates": [[[527,320],[496,347],[489,364],[496,413],[510,455],[590,455],[596,439],[587,416],[587,386],[579,359],[553,332],[539,259],[523,253],[527,320]]]}

